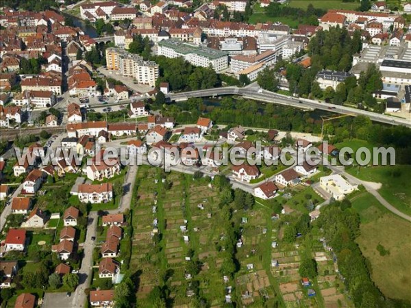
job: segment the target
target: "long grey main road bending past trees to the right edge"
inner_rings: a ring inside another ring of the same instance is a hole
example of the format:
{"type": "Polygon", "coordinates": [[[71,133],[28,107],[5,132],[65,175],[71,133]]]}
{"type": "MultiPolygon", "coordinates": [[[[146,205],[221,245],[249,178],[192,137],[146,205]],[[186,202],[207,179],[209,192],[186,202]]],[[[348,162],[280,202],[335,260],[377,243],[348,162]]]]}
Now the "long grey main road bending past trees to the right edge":
{"type": "Polygon", "coordinates": [[[182,93],[168,94],[167,97],[172,101],[186,101],[190,97],[217,97],[220,95],[241,95],[248,99],[255,99],[257,101],[266,101],[268,103],[276,103],[279,105],[288,105],[298,108],[318,109],[327,112],[335,112],[338,114],[351,114],[352,116],[368,116],[371,120],[379,123],[386,123],[390,125],[405,125],[411,127],[411,120],[404,118],[395,118],[393,116],[386,116],[384,114],[376,114],[375,112],[368,112],[352,107],[345,107],[334,105],[330,103],[319,103],[310,99],[296,99],[295,97],[287,97],[286,95],[277,94],[274,92],[259,90],[255,85],[247,86],[245,88],[225,87],[208,90],[198,90],[182,93]],[[260,91],[260,92],[259,92],[260,91]],[[300,103],[301,102],[301,103],[300,103]]]}

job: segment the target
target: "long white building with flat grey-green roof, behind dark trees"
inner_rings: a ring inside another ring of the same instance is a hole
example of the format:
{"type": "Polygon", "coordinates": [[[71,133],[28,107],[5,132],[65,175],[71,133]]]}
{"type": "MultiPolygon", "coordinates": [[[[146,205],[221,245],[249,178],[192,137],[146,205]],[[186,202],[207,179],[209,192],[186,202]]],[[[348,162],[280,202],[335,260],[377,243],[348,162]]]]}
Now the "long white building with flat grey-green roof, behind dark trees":
{"type": "Polygon", "coordinates": [[[184,60],[195,66],[209,67],[216,72],[228,67],[228,53],[208,47],[180,42],[179,40],[162,40],[158,42],[158,55],[165,57],[184,57],[184,60]]]}

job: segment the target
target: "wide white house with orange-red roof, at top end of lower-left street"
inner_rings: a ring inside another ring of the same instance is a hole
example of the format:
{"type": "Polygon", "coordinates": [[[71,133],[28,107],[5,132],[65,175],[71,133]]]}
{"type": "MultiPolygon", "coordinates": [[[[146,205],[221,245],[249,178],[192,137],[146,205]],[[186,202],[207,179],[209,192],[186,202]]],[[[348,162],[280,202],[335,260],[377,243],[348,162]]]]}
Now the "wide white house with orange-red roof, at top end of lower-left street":
{"type": "Polygon", "coordinates": [[[112,183],[80,184],[78,188],[79,201],[82,203],[106,203],[112,201],[112,183]]]}

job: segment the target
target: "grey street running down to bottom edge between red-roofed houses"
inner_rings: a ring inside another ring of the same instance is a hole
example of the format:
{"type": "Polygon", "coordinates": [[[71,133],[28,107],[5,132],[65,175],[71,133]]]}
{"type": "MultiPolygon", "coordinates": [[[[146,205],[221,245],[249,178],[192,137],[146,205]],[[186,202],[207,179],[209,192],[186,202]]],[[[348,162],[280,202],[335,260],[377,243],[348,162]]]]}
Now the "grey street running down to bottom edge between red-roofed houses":
{"type": "Polygon", "coordinates": [[[87,296],[86,293],[84,293],[84,290],[86,290],[91,283],[92,252],[95,247],[95,241],[92,241],[91,238],[96,236],[97,221],[97,211],[90,211],[88,214],[86,240],[83,245],[84,257],[82,260],[82,267],[79,270],[79,285],[75,289],[71,307],[84,307],[84,303],[86,303],[87,296]]]}

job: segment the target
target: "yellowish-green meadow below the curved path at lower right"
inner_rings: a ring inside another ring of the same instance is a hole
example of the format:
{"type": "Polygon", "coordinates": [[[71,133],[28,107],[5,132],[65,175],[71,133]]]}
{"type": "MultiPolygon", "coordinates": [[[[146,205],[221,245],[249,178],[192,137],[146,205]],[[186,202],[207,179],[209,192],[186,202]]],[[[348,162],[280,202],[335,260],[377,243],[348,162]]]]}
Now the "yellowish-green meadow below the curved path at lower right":
{"type": "Polygon", "coordinates": [[[379,290],[390,298],[411,300],[411,224],[391,214],[368,192],[351,196],[361,219],[357,242],[372,267],[372,278],[379,290]],[[377,251],[381,245],[386,255],[377,251]]]}

